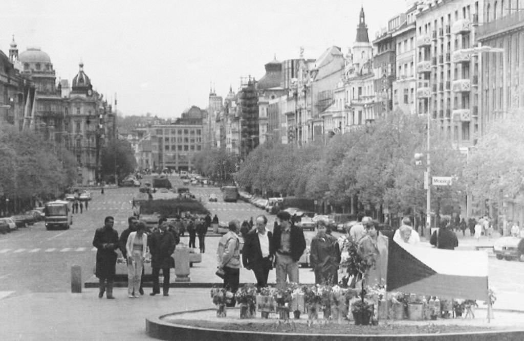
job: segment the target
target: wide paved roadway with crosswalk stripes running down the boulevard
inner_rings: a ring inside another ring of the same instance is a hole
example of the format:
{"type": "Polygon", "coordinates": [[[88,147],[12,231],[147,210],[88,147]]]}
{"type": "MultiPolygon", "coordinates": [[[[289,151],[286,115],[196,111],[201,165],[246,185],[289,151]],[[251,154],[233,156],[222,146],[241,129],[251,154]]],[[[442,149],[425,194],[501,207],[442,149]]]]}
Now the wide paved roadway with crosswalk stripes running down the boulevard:
{"type": "MultiPolygon", "coordinates": [[[[178,177],[170,177],[170,180],[175,187],[181,185],[178,177]]],[[[242,201],[224,203],[219,188],[190,186],[190,189],[197,199],[202,199],[212,215],[217,214],[223,222],[230,219],[242,221],[265,213],[242,201]],[[218,202],[208,202],[211,193],[219,197],[218,202]]],[[[115,217],[115,229],[121,233],[127,226],[127,217],[132,213],[130,200],[137,192],[138,189],[132,187],[108,189],[103,195],[99,191],[93,192],[88,210],[73,216],[70,230],[47,231],[43,222],[39,222],[1,235],[0,298],[8,299],[29,293],[69,292],[72,265],[82,267],[83,281],[91,278],[96,251],[91,244],[94,230],[103,225],[105,216],[112,215],[115,217]]],[[[268,226],[271,227],[275,216],[267,216],[268,226]]],[[[311,239],[313,235],[314,232],[305,232],[307,239],[311,239]]],[[[471,237],[459,238],[461,248],[471,249],[476,243],[471,237]]],[[[219,238],[209,237],[206,240],[207,252],[203,260],[213,261],[219,238]]],[[[187,244],[188,236],[182,237],[181,241],[187,244]]],[[[489,241],[482,240],[481,243],[489,244],[489,241]]],[[[490,257],[489,284],[497,294],[496,307],[520,309],[521,292],[524,291],[524,264],[490,257]]]]}

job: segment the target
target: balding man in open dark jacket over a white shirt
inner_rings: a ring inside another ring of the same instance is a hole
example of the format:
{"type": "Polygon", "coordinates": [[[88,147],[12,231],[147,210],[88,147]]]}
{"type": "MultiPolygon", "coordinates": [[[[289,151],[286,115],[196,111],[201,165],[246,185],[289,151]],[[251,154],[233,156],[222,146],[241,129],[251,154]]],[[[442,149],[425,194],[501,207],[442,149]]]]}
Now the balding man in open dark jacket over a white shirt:
{"type": "Polygon", "coordinates": [[[272,267],[275,253],[272,234],[266,228],[266,225],[266,216],[259,215],[256,218],[257,228],[246,235],[244,248],[242,249],[244,268],[253,270],[259,289],[267,286],[267,277],[272,267]]]}

